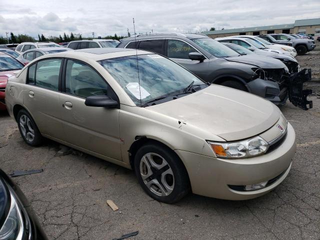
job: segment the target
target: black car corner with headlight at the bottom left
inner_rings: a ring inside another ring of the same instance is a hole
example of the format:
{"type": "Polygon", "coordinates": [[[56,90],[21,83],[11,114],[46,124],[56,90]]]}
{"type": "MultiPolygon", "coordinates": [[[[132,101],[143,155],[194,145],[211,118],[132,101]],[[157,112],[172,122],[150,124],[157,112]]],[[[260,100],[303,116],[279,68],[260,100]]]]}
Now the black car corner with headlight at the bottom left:
{"type": "Polygon", "coordinates": [[[0,239],[47,240],[30,203],[0,169],[0,239]]]}

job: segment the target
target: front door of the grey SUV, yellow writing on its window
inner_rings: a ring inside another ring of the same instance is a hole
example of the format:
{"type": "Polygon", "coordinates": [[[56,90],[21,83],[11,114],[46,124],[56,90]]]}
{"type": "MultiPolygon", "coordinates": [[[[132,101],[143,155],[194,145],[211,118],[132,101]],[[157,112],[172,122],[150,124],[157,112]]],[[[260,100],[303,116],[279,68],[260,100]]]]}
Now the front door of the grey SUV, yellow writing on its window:
{"type": "Polygon", "coordinates": [[[209,62],[205,60],[202,62],[198,60],[191,60],[189,58],[190,52],[198,52],[198,50],[185,41],[178,39],[167,39],[167,57],[181,64],[198,77],[206,79],[208,71],[205,71],[205,69],[209,68],[209,62]]]}

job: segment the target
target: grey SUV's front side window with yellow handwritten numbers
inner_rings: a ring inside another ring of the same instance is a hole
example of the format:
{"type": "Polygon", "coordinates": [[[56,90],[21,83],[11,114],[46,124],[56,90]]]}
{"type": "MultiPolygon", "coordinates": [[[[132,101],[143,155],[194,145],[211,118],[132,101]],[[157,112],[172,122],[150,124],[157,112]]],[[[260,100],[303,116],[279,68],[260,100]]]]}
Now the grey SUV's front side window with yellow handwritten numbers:
{"type": "Polygon", "coordinates": [[[197,51],[184,41],[168,39],[167,57],[189,59],[189,53],[197,51]]]}

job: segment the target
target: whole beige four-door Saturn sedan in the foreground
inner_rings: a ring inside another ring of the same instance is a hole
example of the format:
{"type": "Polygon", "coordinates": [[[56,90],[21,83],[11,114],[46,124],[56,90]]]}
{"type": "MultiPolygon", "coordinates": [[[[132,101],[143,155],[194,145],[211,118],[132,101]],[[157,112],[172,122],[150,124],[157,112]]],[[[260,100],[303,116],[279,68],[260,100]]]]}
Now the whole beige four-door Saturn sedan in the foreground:
{"type": "Polygon", "coordinates": [[[156,200],[260,196],[287,176],[295,133],[273,103],[208,84],[161,55],[89,48],[38,57],[8,79],[9,114],[42,137],[133,168],[156,200]]]}

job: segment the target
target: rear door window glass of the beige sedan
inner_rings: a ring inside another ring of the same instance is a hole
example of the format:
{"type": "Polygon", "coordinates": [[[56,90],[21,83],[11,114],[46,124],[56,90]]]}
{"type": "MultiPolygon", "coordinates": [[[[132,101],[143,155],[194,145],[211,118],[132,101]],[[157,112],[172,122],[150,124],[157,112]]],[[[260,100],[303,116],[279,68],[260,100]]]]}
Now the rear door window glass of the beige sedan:
{"type": "Polygon", "coordinates": [[[61,61],[61,59],[38,61],[35,71],[35,85],[57,90],[61,61]]]}

